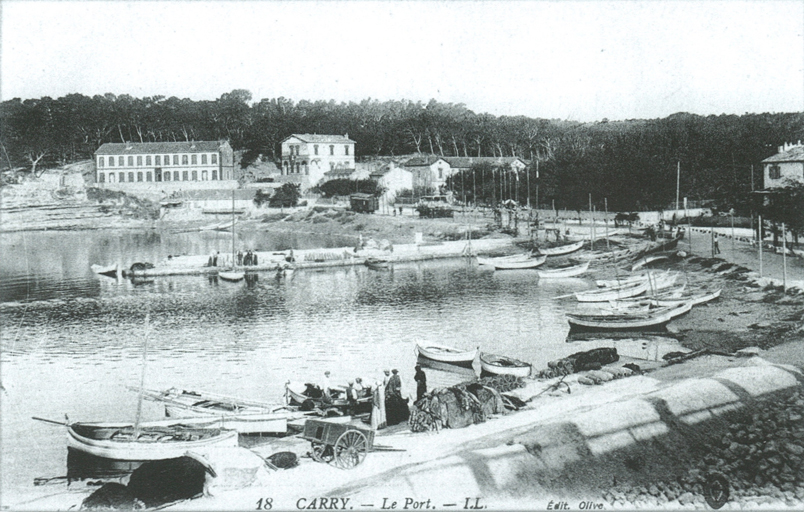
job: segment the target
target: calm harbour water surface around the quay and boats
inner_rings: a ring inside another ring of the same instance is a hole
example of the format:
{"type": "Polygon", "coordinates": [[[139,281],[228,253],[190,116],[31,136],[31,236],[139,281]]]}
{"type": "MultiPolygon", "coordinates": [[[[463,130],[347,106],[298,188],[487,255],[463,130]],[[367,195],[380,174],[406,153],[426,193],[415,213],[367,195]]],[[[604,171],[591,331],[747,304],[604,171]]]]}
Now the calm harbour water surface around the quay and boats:
{"type": "MultiPolygon", "coordinates": [[[[353,240],[260,233],[240,242],[282,250],[353,240]]],[[[284,382],[319,381],[327,369],[333,382],[346,382],[398,368],[415,389],[417,341],[479,346],[537,368],[581,349],[565,343],[564,304],[552,298],[588,281],[540,283],[532,271],[493,272],[466,259],[304,270],[282,280],[265,273],[249,283],[177,276],[133,284],[90,270],[228,244],[225,234],[197,232],[0,235],[5,503],[53,492],[33,479],[66,474],[65,430],[32,416],[131,421],[137,397],[127,387],[139,386],[143,367],[148,388],[279,402],[284,382]]],[[[461,378],[428,370],[428,380],[432,387],[461,378]]],[[[143,412],[164,415],[150,402],[143,412]]]]}

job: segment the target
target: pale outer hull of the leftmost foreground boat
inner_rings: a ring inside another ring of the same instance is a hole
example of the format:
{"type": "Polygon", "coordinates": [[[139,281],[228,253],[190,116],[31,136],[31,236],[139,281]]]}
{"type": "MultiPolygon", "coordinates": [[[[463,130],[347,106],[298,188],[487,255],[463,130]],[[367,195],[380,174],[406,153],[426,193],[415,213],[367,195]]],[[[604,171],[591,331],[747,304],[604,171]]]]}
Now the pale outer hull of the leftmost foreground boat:
{"type": "MultiPolygon", "coordinates": [[[[178,423],[178,422],[176,422],[178,423]]],[[[234,430],[221,430],[217,435],[210,435],[193,441],[115,441],[112,439],[93,439],[81,430],[93,428],[130,429],[131,424],[72,424],[67,428],[67,446],[73,450],[81,451],[103,459],[121,461],[148,461],[163,460],[181,457],[188,450],[208,448],[213,446],[237,446],[237,432],[234,430]]],[[[148,426],[143,424],[143,429],[148,426]]],[[[216,429],[217,430],[217,429],[216,429]]],[[[166,434],[166,436],[169,434],[166,434]]]]}

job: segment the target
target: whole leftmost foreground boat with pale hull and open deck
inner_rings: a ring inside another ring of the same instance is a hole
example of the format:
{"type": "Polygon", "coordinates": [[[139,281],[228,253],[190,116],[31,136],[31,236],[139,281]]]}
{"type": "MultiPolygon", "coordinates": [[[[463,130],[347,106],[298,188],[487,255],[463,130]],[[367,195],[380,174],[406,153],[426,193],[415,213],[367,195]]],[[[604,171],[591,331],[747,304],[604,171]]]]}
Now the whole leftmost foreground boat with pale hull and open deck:
{"type": "Polygon", "coordinates": [[[181,457],[187,451],[237,446],[237,432],[182,425],[181,420],[131,423],[73,423],[67,447],[95,457],[146,461],[181,457]]]}

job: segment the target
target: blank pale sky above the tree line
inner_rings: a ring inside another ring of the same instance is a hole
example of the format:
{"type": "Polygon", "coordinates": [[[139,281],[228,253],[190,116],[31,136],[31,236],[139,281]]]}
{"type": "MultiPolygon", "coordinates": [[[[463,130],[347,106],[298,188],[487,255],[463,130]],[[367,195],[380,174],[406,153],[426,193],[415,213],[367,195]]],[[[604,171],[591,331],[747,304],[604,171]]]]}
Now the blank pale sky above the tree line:
{"type": "Polygon", "coordinates": [[[572,121],[804,111],[801,1],[24,1],[0,96],[463,103],[572,121]]]}

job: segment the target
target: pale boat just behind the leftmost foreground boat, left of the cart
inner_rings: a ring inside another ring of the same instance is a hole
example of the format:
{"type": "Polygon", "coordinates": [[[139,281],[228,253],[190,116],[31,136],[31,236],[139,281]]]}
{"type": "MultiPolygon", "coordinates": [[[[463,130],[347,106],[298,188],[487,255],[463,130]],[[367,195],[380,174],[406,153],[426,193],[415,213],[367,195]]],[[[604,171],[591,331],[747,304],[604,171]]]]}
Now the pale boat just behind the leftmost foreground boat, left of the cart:
{"type": "Polygon", "coordinates": [[[229,397],[203,391],[144,390],[143,397],[165,405],[165,415],[199,419],[220,428],[236,430],[241,434],[285,433],[287,421],[296,417],[284,405],[273,405],[243,398],[229,397]]]}

